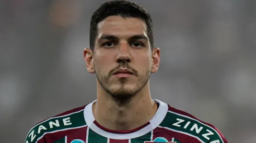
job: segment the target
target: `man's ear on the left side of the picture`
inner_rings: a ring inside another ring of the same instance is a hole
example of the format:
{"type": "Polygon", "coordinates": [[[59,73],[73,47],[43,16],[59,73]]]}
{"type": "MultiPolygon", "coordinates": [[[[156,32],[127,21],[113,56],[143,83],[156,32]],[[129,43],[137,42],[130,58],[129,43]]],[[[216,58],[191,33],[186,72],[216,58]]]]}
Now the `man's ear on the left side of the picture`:
{"type": "Polygon", "coordinates": [[[86,69],[89,73],[95,73],[93,51],[89,48],[84,49],[84,59],[86,63],[86,69]]]}

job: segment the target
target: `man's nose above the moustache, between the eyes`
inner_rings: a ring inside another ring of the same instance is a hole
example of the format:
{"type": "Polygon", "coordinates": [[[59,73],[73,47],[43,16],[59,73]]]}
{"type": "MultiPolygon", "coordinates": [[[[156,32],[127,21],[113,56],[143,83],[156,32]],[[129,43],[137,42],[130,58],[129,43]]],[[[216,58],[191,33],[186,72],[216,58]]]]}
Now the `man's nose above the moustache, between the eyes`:
{"type": "Polygon", "coordinates": [[[116,58],[117,62],[131,62],[131,55],[129,52],[129,45],[127,43],[121,43],[118,56],[116,58]]]}

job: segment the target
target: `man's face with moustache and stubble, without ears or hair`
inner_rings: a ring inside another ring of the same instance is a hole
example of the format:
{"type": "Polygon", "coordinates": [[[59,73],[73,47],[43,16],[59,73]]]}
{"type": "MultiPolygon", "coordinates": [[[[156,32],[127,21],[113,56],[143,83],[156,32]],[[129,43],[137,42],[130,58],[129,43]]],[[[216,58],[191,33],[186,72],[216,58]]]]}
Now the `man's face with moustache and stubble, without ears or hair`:
{"type": "Polygon", "coordinates": [[[112,96],[132,96],[148,82],[153,58],[146,28],[140,19],[119,16],[98,24],[92,59],[98,82],[112,96]]]}

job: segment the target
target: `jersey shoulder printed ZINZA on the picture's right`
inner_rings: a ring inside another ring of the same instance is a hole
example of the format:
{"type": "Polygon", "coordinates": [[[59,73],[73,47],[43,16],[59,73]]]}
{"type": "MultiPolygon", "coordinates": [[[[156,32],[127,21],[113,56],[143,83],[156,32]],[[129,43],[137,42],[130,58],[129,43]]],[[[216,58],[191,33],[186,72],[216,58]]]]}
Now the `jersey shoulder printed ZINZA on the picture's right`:
{"type": "Polygon", "coordinates": [[[224,135],[212,124],[203,122],[187,112],[170,106],[160,127],[182,133],[184,136],[197,138],[201,142],[227,143],[224,135]]]}

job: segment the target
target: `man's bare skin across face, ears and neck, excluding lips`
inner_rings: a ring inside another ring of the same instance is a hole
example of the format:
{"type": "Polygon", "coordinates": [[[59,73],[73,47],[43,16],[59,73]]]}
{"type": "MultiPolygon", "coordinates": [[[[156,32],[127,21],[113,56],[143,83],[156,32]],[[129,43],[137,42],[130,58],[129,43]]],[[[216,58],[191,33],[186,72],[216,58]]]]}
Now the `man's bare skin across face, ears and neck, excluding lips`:
{"type": "Polygon", "coordinates": [[[84,50],[87,71],[97,76],[97,102],[92,111],[103,127],[131,130],[146,124],[157,111],[149,76],[158,70],[160,50],[150,49],[146,29],[141,19],[107,17],[98,24],[94,51],[84,50]],[[120,68],[133,74],[115,76],[120,68]]]}

